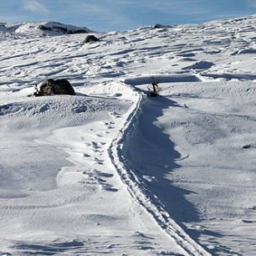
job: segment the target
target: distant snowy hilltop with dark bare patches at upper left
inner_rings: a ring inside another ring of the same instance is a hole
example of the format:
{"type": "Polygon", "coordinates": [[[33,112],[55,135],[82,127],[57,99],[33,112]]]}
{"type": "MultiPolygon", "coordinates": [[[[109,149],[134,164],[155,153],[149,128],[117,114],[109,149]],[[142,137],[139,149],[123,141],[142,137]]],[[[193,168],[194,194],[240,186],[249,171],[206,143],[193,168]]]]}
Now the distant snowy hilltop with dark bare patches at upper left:
{"type": "Polygon", "coordinates": [[[76,27],[56,22],[39,23],[0,23],[0,32],[19,33],[35,36],[62,35],[69,33],[90,33],[93,32],[86,27],[76,27]]]}

